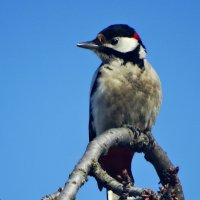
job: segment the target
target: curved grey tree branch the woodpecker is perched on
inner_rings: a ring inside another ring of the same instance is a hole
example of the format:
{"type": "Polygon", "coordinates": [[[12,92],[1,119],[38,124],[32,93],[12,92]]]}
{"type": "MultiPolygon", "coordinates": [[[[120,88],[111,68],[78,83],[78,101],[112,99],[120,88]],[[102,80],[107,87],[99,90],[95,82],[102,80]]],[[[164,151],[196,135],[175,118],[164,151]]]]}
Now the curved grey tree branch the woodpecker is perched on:
{"type": "Polygon", "coordinates": [[[43,200],[74,200],[79,188],[85,183],[87,176],[93,175],[102,185],[113,190],[118,195],[133,196],[133,199],[171,199],[183,200],[184,195],[180,181],[177,177],[178,169],[174,168],[166,153],[155,141],[150,132],[138,133],[128,128],[117,128],[105,131],[91,141],[87,149],[70,174],[63,189],[46,196],[43,200]],[[126,146],[134,152],[144,152],[145,158],[154,168],[160,178],[163,187],[158,194],[152,190],[125,187],[110,177],[98,164],[98,159],[104,155],[110,147],[126,146]]]}

